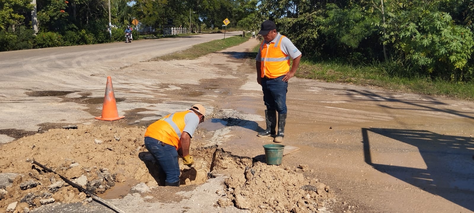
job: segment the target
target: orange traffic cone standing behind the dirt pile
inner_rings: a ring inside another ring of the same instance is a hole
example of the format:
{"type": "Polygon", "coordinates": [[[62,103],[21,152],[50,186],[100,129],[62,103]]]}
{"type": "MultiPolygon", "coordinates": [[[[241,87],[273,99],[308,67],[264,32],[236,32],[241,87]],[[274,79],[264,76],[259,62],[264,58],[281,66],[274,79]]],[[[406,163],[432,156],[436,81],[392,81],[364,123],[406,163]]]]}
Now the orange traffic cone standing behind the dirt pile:
{"type": "Polygon", "coordinates": [[[118,116],[117,102],[115,102],[114,88],[112,87],[112,78],[107,76],[107,86],[105,87],[102,116],[95,117],[95,119],[103,121],[115,121],[124,117],[125,116],[118,116]]]}

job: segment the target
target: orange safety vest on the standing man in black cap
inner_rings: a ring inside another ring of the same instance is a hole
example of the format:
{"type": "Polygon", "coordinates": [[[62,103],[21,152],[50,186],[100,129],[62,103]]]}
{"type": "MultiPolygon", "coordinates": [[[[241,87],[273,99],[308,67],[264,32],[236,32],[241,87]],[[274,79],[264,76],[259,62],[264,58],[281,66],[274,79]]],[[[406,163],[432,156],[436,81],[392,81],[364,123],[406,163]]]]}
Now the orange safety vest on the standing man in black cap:
{"type": "Polygon", "coordinates": [[[290,56],[280,49],[284,35],[276,37],[276,43],[265,44],[265,40],[260,45],[260,69],[261,77],[270,79],[278,78],[290,71],[290,56]]]}

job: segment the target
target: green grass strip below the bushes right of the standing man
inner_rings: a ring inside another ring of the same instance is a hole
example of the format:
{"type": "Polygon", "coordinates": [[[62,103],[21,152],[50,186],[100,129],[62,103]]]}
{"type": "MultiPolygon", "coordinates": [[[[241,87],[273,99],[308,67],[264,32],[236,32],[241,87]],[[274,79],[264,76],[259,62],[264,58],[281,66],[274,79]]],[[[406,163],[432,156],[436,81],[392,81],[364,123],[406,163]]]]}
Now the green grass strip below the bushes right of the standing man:
{"type": "Polygon", "coordinates": [[[375,86],[403,93],[474,100],[473,82],[449,82],[406,75],[408,76],[393,74],[391,69],[387,69],[386,64],[374,63],[354,66],[343,62],[314,62],[305,58],[301,59],[300,67],[295,74],[295,76],[305,79],[375,86]]]}

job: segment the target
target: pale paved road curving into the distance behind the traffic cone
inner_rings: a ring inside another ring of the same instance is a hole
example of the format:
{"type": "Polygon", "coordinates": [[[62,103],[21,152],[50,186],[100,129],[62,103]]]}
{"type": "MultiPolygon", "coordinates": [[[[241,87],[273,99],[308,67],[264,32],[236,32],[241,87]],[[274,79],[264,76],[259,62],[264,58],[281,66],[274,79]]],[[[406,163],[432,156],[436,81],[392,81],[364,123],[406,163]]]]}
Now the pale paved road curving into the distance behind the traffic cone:
{"type": "MultiPolygon", "coordinates": [[[[239,35],[229,32],[226,36],[239,35]]],[[[138,61],[185,49],[215,39],[223,34],[201,34],[185,37],[161,38],[124,42],[54,47],[0,52],[0,84],[9,84],[20,77],[34,80],[42,72],[64,69],[118,69],[138,61]]],[[[2,87],[3,89],[3,87],[2,87]]]]}

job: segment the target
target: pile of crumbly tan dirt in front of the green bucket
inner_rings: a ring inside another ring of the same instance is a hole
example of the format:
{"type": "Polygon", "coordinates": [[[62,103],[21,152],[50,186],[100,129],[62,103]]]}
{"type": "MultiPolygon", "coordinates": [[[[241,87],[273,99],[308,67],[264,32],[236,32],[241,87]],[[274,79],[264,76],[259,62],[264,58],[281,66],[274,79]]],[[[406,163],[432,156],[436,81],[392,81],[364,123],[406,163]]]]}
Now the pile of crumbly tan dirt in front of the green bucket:
{"type": "MultiPolygon", "coordinates": [[[[307,166],[300,165],[301,169],[307,166]]],[[[325,204],[334,198],[329,187],[317,179],[307,180],[301,169],[285,168],[255,162],[242,174],[233,174],[225,182],[226,192],[220,192],[217,204],[249,209],[255,213],[325,211],[325,204]]]]}

